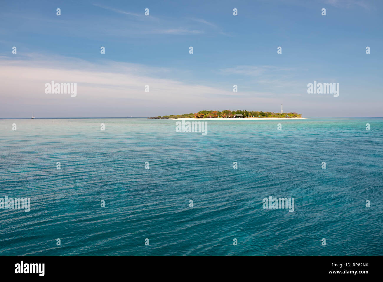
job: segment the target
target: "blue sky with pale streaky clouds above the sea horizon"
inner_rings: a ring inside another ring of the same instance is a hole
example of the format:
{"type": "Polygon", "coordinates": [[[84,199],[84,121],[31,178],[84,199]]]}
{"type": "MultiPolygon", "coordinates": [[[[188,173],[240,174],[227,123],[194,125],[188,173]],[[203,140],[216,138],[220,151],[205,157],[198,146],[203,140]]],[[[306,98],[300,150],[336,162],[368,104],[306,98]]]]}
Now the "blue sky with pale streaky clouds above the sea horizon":
{"type": "Polygon", "coordinates": [[[380,0],[1,1],[0,117],[279,112],[282,103],[303,117],[382,117],[382,8],[380,0]],[[51,81],[76,83],[77,95],[47,94],[51,81]],[[339,83],[339,96],[308,94],[314,81],[339,83]]]}

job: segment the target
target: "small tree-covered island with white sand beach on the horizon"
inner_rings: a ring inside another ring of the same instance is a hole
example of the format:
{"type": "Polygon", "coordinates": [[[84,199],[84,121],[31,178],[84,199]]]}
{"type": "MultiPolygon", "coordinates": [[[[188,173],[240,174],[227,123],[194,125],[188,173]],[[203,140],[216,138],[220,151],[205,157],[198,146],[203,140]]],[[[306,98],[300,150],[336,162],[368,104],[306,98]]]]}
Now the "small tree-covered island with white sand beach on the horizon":
{"type": "Polygon", "coordinates": [[[196,114],[164,115],[163,117],[148,117],[148,119],[303,119],[301,114],[296,112],[275,113],[247,110],[200,110],[196,114]]]}

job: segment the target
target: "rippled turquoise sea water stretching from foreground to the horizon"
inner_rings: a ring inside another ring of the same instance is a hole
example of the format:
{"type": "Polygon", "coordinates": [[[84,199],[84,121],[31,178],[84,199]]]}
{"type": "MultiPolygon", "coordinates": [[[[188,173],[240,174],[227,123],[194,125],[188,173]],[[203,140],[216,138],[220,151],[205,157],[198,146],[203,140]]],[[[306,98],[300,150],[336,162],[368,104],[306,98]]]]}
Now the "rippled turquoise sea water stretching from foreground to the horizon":
{"type": "Polygon", "coordinates": [[[382,137],[380,118],[3,119],[0,198],[31,210],[0,209],[0,254],[383,255],[382,137]]]}

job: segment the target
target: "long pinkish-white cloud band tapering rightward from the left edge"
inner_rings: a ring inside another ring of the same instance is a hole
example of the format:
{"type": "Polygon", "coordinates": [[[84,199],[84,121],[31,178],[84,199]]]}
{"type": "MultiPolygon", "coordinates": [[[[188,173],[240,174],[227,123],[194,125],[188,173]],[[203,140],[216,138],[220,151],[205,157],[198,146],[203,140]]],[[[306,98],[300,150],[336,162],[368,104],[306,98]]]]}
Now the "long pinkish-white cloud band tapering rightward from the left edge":
{"type": "MultiPolygon", "coordinates": [[[[229,91],[198,84],[184,84],[175,79],[159,78],[163,68],[152,68],[140,64],[118,63],[103,61],[90,63],[75,58],[38,58],[37,60],[1,60],[0,74],[8,82],[5,85],[17,90],[19,82],[37,97],[46,96],[43,84],[54,80],[56,82],[77,83],[83,89],[83,97],[102,98],[105,92],[116,98],[130,97],[147,101],[162,101],[174,99],[179,93],[193,94],[193,97],[203,97],[209,94],[219,94],[229,91]],[[149,85],[151,91],[144,92],[144,86],[149,85]],[[34,88],[34,86],[38,86],[34,88]]],[[[165,71],[169,71],[166,70],[165,71]]],[[[79,92],[79,91],[78,91],[79,92]]],[[[23,92],[14,91],[16,96],[24,96],[23,92]]]]}

